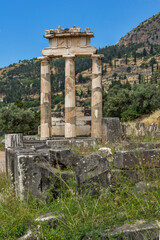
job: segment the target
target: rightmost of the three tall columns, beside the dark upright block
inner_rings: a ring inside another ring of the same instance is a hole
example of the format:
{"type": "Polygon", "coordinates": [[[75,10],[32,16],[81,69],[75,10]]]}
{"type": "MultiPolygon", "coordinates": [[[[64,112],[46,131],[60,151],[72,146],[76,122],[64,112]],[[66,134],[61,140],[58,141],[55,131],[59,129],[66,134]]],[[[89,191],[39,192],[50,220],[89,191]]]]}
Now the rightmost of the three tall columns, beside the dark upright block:
{"type": "Polygon", "coordinates": [[[91,136],[102,137],[102,57],[92,55],[91,136]]]}

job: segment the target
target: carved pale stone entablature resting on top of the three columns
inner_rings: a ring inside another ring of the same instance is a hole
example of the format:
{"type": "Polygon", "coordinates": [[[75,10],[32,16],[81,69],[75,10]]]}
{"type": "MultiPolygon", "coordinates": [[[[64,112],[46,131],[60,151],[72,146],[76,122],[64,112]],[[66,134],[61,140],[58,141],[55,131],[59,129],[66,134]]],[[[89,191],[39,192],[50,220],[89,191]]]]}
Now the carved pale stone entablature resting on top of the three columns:
{"type": "Polygon", "coordinates": [[[91,56],[96,53],[96,48],[90,46],[90,38],[94,34],[90,28],[81,32],[80,28],[51,29],[45,31],[45,38],[49,39],[49,48],[44,48],[43,56],[62,57],[66,54],[75,54],[76,56],[91,56]]]}

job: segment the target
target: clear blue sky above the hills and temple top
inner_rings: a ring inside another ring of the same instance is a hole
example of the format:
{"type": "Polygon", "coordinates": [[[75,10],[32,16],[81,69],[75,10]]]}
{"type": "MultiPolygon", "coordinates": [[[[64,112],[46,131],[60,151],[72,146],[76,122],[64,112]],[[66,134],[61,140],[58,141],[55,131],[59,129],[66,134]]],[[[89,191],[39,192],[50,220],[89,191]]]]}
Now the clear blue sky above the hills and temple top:
{"type": "Polygon", "coordinates": [[[44,31],[60,25],[90,27],[97,48],[116,44],[139,23],[160,12],[160,0],[1,0],[0,68],[41,56],[44,31]]]}

